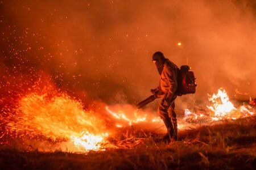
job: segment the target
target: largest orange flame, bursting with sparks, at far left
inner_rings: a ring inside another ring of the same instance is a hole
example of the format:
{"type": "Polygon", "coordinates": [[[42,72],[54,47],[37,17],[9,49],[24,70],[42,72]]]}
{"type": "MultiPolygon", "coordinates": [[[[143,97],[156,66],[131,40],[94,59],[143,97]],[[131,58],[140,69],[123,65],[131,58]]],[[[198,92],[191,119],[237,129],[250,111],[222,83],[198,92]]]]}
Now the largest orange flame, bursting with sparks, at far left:
{"type": "Polygon", "coordinates": [[[23,137],[41,135],[51,141],[73,142],[79,150],[88,151],[101,149],[108,137],[108,133],[102,133],[103,124],[65,93],[53,97],[32,93],[19,100],[15,116],[9,118],[6,127],[23,137]]]}

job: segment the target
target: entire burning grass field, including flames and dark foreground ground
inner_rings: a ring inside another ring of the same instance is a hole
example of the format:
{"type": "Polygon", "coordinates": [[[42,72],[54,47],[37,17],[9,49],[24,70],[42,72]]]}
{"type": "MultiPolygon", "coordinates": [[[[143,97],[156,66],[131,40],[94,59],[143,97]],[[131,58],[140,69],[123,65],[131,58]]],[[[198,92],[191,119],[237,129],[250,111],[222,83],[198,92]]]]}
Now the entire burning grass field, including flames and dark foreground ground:
{"type": "Polygon", "coordinates": [[[85,107],[54,86],[37,84],[15,100],[1,101],[10,105],[0,117],[0,165],[4,169],[253,168],[255,108],[234,107],[223,90],[209,101],[210,107],[185,110],[179,120],[179,141],[167,145],[160,140],[159,129],[164,126],[155,114],[131,105],[85,107]],[[201,120],[204,124],[192,124],[201,120]]]}

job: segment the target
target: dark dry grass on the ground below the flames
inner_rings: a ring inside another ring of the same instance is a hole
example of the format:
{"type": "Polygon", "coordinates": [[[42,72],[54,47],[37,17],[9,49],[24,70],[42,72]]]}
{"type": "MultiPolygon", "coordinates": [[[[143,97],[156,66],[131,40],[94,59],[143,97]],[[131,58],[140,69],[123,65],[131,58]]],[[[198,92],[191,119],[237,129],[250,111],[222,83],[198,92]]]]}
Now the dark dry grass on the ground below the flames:
{"type": "Polygon", "coordinates": [[[256,117],[179,132],[172,145],[129,129],[106,151],[87,154],[20,151],[2,145],[1,169],[255,169],[256,117]]]}

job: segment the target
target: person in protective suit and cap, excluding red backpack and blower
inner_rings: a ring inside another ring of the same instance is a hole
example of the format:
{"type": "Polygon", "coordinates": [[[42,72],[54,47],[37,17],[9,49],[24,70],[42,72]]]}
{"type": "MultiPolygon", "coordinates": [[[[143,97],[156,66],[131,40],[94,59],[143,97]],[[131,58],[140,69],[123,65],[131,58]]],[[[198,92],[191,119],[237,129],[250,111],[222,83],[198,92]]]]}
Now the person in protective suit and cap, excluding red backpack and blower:
{"type": "Polygon", "coordinates": [[[159,87],[151,90],[151,92],[159,98],[163,97],[158,106],[158,114],[167,128],[167,134],[163,140],[167,142],[170,142],[171,139],[177,141],[177,118],[174,111],[174,100],[177,96],[177,66],[165,58],[162,52],[155,52],[152,61],[160,74],[159,87]]]}

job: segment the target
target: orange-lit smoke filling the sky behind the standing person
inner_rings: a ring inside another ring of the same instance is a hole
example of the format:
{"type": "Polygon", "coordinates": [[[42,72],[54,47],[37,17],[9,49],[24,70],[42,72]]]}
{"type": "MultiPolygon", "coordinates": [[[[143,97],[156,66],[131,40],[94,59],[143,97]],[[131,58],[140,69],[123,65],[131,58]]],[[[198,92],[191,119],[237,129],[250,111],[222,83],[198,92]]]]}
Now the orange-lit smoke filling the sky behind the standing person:
{"type": "MultiPolygon", "coordinates": [[[[52,76],[67,91],[137,103],[158,86],[162,51],[197,78],[193,101],[224,87],[256,96],[254,1],[1,1],[3,75],[52,76]],[[181,42],[181,46],[177,43],[181,42]]],[[[6,78],[1,78],[2,81],[6,78]]],[[[247,96],[237,96],[244,98],[247,96]]],[[[193,101],[191,101],[193,100],[193,101]]]]}

